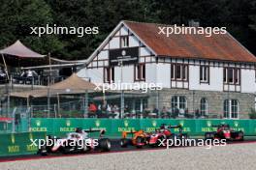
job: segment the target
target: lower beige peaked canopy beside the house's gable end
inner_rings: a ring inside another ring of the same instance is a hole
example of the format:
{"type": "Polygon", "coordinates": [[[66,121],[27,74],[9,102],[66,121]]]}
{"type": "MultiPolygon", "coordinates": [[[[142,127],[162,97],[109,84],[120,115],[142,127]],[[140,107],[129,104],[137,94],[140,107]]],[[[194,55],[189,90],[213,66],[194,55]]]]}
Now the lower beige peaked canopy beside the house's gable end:
{"type": "Polygon", "coordinates": [[[96,85],[93,83],[86,81],[80,78],[76,73],[73,73],[67,79],[55,83],[49,87],[44,89],[37,89],[32,91],[25,91],[25,92],[15,92],[12,93],[12,97],[18,98],[41,98],[47,97],[48,93],[50,96],[55,96],[57,94],[82,94],[85,93],[87,90],[94,90],[96,85]]]}

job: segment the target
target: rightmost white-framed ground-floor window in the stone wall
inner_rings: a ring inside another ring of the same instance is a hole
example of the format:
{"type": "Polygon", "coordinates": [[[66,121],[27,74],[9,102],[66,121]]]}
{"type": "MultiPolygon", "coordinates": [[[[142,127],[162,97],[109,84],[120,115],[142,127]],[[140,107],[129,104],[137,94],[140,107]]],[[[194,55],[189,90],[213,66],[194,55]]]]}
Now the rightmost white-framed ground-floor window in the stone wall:
{"type": "Polygon", "coordinates": [[[238,119],[239,118],[239,100],[225,99],[224,100],[224,118],[238,119]]]}

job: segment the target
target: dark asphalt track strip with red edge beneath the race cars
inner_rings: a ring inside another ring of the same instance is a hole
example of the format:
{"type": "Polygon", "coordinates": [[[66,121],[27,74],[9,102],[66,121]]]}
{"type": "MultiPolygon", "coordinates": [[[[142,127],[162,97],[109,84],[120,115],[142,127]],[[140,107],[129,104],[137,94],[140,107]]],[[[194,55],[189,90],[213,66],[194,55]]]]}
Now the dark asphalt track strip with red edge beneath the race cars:
{"type": "MultiPolygon", "coordinates": [[[[228,145],[235,144],[247,144],[247,143],[256,143],[255,137],[246,137],[244,141],[231,141],[227,142],[228,145]]],[[[196,147],[196,146],[193,146],[196,147]]],[[[176,149],[183,147],[174,147],[176,149]]],[[[140,152],[146,150],[164,150],[165,147],[149,147],[144,146],[141,149],[138,149],[134,146],[127,146],[126,148],[122,148],[119,145],[119,139],[112,139],[112,150],[110,152],[100,152],[100,151],[92,151],[86,154],[51,154],[48,156],[40,156],[40,155],[22,155],[22,156],[0,156],[1,162],[9,162],[9,161],[18,161],[18,160],[31,160],[31,159],[43,159],[43,158],[55,158],[55,157],[63,157],[63,156],[84,156],[84,155],[102,155],[102,154],[112,154],[112,153],[123,153],[123,152],[140,152]]]]}

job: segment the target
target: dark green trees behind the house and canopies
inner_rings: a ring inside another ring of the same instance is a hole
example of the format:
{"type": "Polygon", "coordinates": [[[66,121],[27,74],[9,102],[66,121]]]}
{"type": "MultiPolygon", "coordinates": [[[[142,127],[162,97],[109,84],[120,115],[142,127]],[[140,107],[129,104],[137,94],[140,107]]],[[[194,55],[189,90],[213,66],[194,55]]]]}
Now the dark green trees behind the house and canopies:
{"type": "Polygon", "coordinates": [[[202,26],[226,26],[256,53],[255,0],[2,0],[0,11],[0,48],[19,39],[40,53],[66,60],[87,58],[123,19],[185,25],[197,19],[202,26]],[[99,34],[29,34],[29,27],[46,24],[97,26],[99,34]]]}

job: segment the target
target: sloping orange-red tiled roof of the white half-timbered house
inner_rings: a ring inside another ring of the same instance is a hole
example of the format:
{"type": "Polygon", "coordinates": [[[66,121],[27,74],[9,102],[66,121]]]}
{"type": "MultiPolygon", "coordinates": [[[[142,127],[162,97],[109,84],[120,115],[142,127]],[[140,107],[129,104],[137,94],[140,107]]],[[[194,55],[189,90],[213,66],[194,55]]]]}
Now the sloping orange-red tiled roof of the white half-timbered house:
{"type": "Polygon", "coordinates": [[[235,40],[228,32],[212,34],[158,34],[162,26],[156,23],[123,21],[124,25],[142,40],[158,56],[188,59],[224,60],[233,62],[256,62],[256,57],[235,40]]]}

